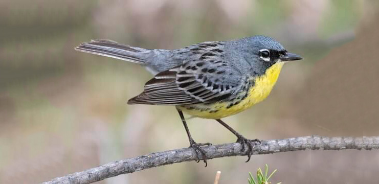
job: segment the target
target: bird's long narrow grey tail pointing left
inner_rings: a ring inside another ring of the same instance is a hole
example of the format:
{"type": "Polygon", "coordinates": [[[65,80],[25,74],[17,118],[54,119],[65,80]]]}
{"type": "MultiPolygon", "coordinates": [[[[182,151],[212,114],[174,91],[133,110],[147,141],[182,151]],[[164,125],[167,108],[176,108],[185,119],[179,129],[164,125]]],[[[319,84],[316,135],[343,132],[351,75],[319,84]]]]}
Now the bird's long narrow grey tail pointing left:
{"type": "Polygon", "coordinates": [[[89,42],[80,43],[80,45],[76,47],[75,50],[101,56],[113,57],[116,59],[122,59],[142,65],[145,64],[145,59],[143,56],[149,52],[147,49],[131,47],[129,45],[123,45],[117,43],[116,41],[106,39],[96,39],[89,42]]]}

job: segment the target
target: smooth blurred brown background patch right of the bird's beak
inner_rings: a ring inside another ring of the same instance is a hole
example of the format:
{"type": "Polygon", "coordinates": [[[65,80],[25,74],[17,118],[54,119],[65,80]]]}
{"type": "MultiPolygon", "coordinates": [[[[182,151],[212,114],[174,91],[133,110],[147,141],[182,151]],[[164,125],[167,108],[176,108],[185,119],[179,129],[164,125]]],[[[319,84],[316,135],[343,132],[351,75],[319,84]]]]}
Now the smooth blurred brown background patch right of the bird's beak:
{"type": "Polygon", "coordinates": [[[379,16],[315,63],[297,105],[299,121],[329,135],[379,133],[379,16]],[[324,128],[325,130],[323,130],[324,128]]]}

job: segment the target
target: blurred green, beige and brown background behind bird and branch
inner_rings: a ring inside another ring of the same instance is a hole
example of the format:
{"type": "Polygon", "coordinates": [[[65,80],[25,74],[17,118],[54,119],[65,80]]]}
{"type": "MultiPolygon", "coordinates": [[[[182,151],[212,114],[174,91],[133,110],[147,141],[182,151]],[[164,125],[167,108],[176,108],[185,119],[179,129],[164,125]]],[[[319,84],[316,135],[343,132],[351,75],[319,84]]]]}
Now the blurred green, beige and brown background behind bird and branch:
{"type": "MultiPolygon", "coordinates": [[[[106,38],[177,49],[263,34],[305,59],[285,65],[267,100],[226,118],[251,139],[379,135],[379,2],[374,0],[0,0],[0,183],[38,183],[126,157],[188,147],[170,106],[127,105],[152,76],[139,65],[74,51],[106,38]]],[[[231,143],[216,121],[194,139],[231,143]]],[[[98,183],[376,183],[377,151],[298,151],[152,168],[98,183]]]]}

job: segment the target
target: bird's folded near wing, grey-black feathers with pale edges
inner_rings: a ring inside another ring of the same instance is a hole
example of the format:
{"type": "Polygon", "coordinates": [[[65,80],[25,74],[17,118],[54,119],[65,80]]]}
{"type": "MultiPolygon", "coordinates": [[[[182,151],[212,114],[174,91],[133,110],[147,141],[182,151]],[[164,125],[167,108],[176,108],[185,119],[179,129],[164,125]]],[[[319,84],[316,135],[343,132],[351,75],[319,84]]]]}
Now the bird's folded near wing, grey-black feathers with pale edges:
{"type": "Polygon", "coordinates": [[[157,74],[129,104],[188,105],[228,99],[241,83],[241,74],[212,51],[157,74]]]}

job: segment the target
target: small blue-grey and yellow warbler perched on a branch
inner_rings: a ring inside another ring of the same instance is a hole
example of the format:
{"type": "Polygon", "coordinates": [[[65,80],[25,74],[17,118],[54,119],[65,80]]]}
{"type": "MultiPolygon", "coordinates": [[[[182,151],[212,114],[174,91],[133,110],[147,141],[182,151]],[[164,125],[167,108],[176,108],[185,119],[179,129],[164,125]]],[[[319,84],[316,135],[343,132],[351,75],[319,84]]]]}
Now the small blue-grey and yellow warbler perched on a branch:
{"type": "Polygon", "coordinates": [[[263,35],[229,41],[205,41],[175,50],[143,49],[107,39],[80,43],[75,50],[137,63],[154,75],[141,94],[128,104],[172,105],[185,127],[190,148],[204,160],[204,146],[196,143],[183,112],[192,117],[214,119],[230,130],[247,151],[249,162],[258,139],[249,140],[222,118],[263,101],[273,89],[282,66],[303,59],[287,52],[274,38],[263,35]]]}

